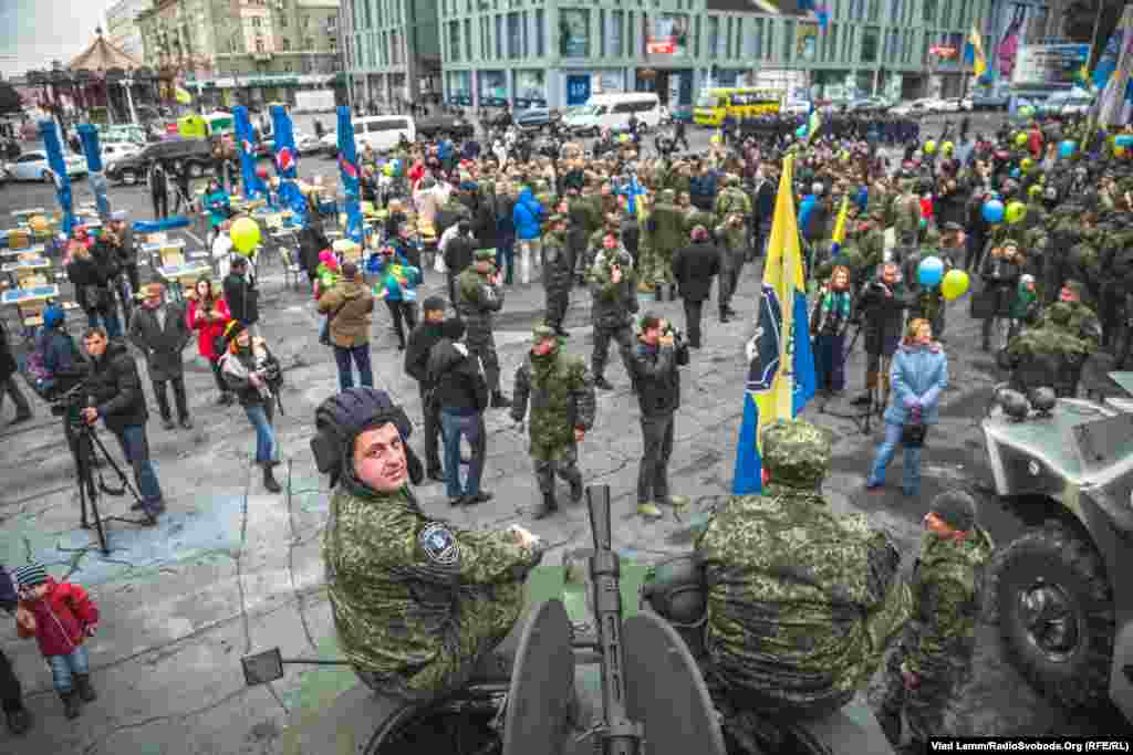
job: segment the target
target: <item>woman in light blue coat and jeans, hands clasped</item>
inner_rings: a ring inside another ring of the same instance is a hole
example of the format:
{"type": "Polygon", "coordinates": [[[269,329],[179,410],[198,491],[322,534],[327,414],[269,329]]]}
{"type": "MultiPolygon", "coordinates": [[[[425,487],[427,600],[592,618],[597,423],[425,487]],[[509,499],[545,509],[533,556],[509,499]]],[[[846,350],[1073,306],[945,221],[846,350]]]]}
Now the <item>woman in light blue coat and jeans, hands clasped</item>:
{"type": "MultiPolygon", "coordinates": [[[[944,349],[932,341],[932,326],[928,320],[913,319],[905,331],[904,341],[893,357],[889,368],[892,398],[885,410],[885,440],[877,449],[874,469],[867,488],[885,484],[885,467],[901,443],[905,424],[936,424],[940,393],[948,386],[948,358],[944,349]]],[[[902,488],[906,496],[920,492],[920,446],[905,446],[902,488]]]]}

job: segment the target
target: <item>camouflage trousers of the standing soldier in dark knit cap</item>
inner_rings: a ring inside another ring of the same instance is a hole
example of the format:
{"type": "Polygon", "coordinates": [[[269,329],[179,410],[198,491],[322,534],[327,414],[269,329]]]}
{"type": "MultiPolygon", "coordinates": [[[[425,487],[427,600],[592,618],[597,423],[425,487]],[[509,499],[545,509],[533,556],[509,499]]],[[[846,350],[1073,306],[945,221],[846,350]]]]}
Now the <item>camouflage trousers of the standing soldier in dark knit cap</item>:
{"type": "Polygon", "coordinates": [[[944,712],[952,700],[959,675],[922,676],[920,684],[905,688],[901,664],[909,655],[909,640],[902,640],[889,652],[885,664],[885,692],[881,697],[878,721],[894,746],[901,741],[902,713],[909,724],[909,738],[913,744],[927,745],[929,737],[944,732],[944,712]]]}

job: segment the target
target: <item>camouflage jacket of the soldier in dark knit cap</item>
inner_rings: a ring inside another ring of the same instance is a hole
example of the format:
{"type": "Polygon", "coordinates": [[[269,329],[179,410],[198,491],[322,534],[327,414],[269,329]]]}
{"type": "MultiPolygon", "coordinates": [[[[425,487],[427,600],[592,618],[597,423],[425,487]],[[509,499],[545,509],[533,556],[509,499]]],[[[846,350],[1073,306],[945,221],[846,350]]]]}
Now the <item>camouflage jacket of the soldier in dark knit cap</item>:
{"type": "Polygon", "coordinates": [[[961,541],[925,533],[913,569],[913,621],[903,670],[929,678],[966,670],[976,647],[983,568],[994,549],[979,527],[961,541]]]}

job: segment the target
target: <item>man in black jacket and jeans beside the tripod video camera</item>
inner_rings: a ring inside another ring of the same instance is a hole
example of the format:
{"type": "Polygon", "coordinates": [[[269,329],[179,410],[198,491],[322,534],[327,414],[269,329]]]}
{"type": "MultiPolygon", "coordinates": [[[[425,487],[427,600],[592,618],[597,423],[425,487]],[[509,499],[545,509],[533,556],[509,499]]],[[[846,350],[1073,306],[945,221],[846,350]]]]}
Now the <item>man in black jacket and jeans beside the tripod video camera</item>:
{"type": "Polygon", "coordinates": [[[145,393],[138,377],[137,364],[129,350],[119,342],[111,343],[101,327],[88,329],[83,335],[83,345],[91,355],[91,374],[85,387],[90,392],[91,405],[83,410],[83,419],[94,424],[102,419],[122,447],[126,461],[134,467],[134,484],[142,495],[140,506],[150,524],[157,521],[164,511],[157,473],[150,461],[150,443],[145,423],[150,413],[145,407],[145,393]]]}

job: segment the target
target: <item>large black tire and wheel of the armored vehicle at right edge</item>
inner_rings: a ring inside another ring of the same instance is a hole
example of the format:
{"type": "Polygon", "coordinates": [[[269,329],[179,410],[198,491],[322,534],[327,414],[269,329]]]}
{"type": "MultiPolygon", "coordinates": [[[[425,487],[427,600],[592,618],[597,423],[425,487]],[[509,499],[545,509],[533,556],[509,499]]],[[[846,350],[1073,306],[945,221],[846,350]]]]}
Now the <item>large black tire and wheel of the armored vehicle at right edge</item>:
{"type": "Polygon", "coordinates": [[[1057,523],[996,557],[991,595],[1003,646],[1045,696],[1070,707],[1105,700],[1114,654],[1113,591],[1093,547],[1057,523]]]}

